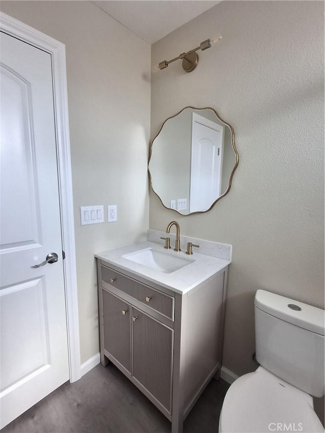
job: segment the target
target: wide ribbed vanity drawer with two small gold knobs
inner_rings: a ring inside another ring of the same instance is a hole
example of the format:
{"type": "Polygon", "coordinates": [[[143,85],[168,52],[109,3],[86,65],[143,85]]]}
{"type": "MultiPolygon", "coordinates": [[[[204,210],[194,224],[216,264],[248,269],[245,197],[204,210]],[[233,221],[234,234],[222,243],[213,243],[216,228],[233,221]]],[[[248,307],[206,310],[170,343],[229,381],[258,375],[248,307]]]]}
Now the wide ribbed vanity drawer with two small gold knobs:
{"type": "Polygon", "coordinates": [[[102,280],[174,320],[174,297],[102,266],[102,280]]]}

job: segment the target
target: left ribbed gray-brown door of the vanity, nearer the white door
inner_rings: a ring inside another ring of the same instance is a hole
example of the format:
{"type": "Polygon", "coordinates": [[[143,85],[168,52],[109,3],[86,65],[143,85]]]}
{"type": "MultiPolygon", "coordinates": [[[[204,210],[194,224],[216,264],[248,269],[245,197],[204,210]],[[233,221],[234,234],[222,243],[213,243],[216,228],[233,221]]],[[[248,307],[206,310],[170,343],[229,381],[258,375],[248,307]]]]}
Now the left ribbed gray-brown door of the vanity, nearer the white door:
{"type": "Polygon", "coordinates": [[[131,306],[103,290],[104,348],[131,373],[131,306]]]}

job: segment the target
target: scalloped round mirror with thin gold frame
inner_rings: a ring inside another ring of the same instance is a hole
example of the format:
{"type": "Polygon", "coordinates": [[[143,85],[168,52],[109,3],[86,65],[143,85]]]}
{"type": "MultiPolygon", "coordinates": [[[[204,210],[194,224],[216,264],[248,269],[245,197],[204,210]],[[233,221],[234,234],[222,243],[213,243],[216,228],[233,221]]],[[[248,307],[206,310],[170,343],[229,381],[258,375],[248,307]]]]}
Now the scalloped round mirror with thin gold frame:
{"type": "Polygon", "coordinates": [[[232,126],[213,108],[185,107],[153,140],[148,171],[161,203],[189,215],[209,211],[229,192],[237,165],[232,126]]]}

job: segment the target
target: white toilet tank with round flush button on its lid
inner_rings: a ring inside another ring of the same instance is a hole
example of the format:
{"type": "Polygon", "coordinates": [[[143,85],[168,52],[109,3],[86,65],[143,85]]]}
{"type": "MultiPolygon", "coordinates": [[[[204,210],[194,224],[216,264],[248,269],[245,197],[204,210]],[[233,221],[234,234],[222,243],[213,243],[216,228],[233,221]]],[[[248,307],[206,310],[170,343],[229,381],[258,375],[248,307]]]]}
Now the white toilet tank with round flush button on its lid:
{"type": "Polygon", "coordinates": [[[266,290],[257,290],[254,306],[258,363],[310,395],[324,395],[324,310],[266,290]]]}

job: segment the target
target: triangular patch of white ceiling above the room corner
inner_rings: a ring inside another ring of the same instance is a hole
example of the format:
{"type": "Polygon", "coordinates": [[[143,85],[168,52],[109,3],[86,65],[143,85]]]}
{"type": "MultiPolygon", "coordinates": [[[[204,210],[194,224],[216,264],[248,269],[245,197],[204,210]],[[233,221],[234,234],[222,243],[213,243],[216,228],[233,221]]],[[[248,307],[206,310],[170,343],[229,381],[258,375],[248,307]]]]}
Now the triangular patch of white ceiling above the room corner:
{"type": "Polygon", "coordinates": [[[151,45],[220,0],[101,0],[93,3],[151,45]]]}

